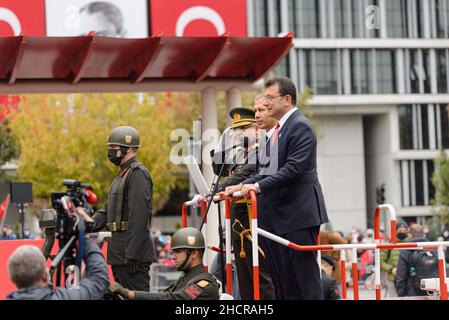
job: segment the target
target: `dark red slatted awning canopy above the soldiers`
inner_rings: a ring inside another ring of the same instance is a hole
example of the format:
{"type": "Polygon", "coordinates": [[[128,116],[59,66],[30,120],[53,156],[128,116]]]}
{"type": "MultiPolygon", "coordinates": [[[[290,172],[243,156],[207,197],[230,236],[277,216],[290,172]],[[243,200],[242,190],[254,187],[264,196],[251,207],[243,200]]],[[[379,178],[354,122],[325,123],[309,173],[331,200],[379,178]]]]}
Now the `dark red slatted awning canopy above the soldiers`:
{"type": "Polygon", "coordinates": [[[69,85],[168,80],[252,83],[279,63],[291,47],[291,34],[281,38],[0,37],[0,91],[48,81],[69,85]]]}

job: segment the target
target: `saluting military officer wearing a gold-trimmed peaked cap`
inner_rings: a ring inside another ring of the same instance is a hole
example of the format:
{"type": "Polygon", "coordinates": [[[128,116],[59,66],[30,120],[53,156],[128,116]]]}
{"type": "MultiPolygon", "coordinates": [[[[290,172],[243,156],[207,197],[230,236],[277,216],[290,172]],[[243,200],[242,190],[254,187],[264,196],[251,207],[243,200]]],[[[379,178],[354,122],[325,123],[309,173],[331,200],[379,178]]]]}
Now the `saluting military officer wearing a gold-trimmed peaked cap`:
{"type": "MultiPolygon", "coordinates": [[[[233,108],[230,113],[233,119],[234,140],[237,143],[248,139],[248,146],[240,147],[233,157],[234,162],[225,161],[226,175],[219,180],[218,191],[227,186],[239,184],[251,176],[257,166],[257,130],[255,112],[248,108],[233,108]]],[[[235,149],[233,149],[235,150],[235,149]]],[[[214,158],[216,159],[216,158],[214,158]]],[[[215,164],[216,166],[216,164],[215,164]]],[[[215,170],[216,172],[217,170],[215,170]]],[[[231,207],[231,241],[237,267],[240,296],[242,300],[253,300],[253,259],[249,221],[250,206],[246,200],[240,200],[231,207]]],[[[264,300],[274,299],[274,286],[265,261],[263,250],[259,248],[260,297],[264,300]]]]}

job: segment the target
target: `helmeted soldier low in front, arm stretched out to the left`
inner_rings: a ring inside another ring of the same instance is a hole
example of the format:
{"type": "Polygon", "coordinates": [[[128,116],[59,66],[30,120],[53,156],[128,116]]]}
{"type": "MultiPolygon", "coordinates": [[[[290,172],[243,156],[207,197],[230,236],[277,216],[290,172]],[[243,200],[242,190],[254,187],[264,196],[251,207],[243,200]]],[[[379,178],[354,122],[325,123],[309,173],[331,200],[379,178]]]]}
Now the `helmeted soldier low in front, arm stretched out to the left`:
{"type": "Polygon", "coordinates": [[[184,272],[178,280],[158,293],[128,290],[117,282],[109,292],[138,300],[218,300],[219,285],[202,263],[205,248],[203,234],[198,229],[180,229],[171,243],[176,268],[184,272]]]}

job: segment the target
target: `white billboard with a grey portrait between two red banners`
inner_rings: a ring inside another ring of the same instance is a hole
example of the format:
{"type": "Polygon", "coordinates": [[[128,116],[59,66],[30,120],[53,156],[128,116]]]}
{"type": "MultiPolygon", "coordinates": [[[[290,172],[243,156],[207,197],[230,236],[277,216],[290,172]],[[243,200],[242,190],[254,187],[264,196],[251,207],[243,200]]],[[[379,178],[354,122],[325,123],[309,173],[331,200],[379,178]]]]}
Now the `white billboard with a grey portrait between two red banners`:
{"type": "Polygon", "coordinates": [[[45,10],[48,36],[148,36],[147,0],[46,0],[45,10]]]}

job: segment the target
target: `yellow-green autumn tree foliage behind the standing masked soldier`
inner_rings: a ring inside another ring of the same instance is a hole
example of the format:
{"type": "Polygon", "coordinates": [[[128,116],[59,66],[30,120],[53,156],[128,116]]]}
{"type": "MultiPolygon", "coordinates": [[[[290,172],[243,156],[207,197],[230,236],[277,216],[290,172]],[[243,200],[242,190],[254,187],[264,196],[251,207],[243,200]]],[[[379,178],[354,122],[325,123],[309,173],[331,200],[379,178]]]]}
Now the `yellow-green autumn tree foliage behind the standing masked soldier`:
{"type": "Polygon", "coordinates": [[[19,179],[32,181],[37,197],[48,197],[63,189],[63,179],[73,178],[91,184],[104,201],[117,172],[106,141],[120,125],[139,131],[138,158],[153,177],[155,208],[176,185],[169,136],[177,114],[161,94],[28,95],[20,110],[12,125],[22,147],[19,179]]]}

